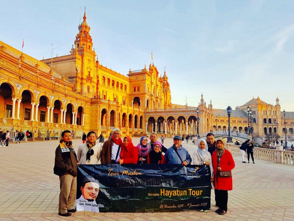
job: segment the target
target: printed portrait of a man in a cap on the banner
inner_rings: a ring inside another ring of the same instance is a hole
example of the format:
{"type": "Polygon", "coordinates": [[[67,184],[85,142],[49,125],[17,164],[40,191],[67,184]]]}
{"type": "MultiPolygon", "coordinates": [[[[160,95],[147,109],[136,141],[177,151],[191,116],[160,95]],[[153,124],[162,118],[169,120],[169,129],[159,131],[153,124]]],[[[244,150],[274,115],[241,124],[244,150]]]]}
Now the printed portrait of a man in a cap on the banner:
{"type": "Polygon", "coordinates": [[[99,193],[99,181],[91,176],[87,176],[81,186],[82,195],[76,200],[77,211],[99,212],[96,198],[99,193]]]}

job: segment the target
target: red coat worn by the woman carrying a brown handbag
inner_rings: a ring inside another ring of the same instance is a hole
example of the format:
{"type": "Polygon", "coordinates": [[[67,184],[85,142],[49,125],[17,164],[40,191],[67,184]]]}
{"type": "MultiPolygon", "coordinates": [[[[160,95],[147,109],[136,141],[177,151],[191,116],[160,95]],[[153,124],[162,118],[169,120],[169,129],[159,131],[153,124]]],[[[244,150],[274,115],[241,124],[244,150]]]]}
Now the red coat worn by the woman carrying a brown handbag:
{"type": "MultiPolygon", "coordinates": [[[[221,190],[232,190],[233,189],[233,179],[232,177],[219,177],[218,176],[218,157],[216,156],[216,151],[212,154],[212,166],[214,170],[214,187],[215,189],[221,190]]],[[[235,162],[230,151],[225,150],[220,158],[221,171],[230,171],[235,167],[235,162]]]]}

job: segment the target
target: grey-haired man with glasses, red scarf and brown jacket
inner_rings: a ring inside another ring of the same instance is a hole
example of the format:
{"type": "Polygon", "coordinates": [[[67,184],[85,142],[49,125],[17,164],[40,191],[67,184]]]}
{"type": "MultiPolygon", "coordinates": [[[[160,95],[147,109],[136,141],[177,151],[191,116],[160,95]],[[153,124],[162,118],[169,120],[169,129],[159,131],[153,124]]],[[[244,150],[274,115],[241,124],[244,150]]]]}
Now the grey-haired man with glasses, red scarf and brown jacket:
{"type": "Polygon", "coordinates": [[[105,141],[101,151],[101,164],[118,164],[118,159],[121,158],[121,130],[113,129],[111,139],[105,141]]]}

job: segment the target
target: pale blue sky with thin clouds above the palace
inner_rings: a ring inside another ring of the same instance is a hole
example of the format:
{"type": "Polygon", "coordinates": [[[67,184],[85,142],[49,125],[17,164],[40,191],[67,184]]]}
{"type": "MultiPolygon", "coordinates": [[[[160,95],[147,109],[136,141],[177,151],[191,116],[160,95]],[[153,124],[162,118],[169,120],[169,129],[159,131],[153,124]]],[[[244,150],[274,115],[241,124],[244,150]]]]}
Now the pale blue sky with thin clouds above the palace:
{"type": "Polygon", "coordinates": [[[0,40],[41,60],[69,53],[86,6],[98,60],[164,68],[172,103],[233,109],[253,97],[294,111],[294,1],[2,1],[0,40]]]}

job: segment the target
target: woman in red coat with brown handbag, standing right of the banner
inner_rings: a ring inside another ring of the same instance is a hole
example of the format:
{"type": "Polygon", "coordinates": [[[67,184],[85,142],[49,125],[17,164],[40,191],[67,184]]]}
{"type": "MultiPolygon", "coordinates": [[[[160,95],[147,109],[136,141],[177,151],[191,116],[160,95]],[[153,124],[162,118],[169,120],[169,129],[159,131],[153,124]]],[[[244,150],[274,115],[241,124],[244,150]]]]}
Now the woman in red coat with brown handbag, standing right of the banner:
{"type": "Polygon", "coordinates": [[[235,162],[230,151],[225,149],[225,141],[222,138],[216,140],[217,149],[212,153],[212,165],[214,172],[214,193],[216,195],[216,212],[224,215],[228,210],[228,190],[233,189],[232,177],[220,177],[219,171],[230,171],[235,167],[235,162]]]}

